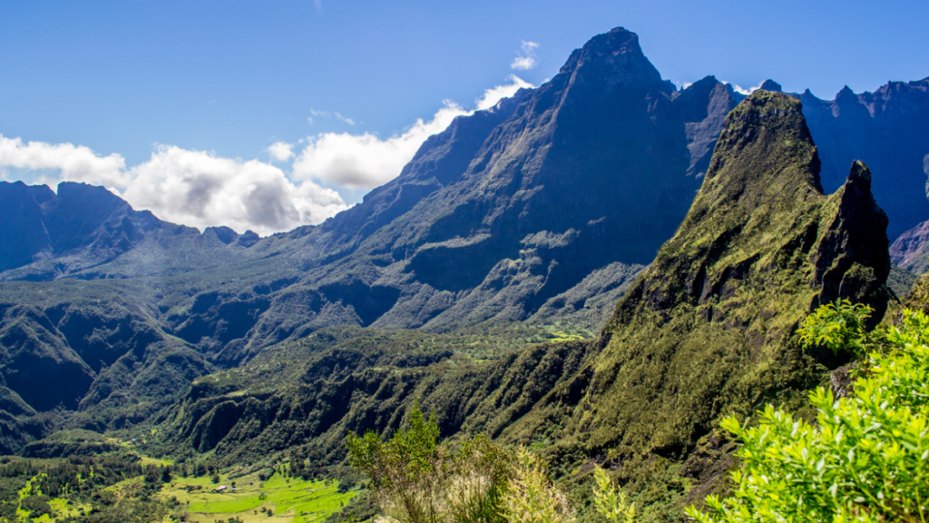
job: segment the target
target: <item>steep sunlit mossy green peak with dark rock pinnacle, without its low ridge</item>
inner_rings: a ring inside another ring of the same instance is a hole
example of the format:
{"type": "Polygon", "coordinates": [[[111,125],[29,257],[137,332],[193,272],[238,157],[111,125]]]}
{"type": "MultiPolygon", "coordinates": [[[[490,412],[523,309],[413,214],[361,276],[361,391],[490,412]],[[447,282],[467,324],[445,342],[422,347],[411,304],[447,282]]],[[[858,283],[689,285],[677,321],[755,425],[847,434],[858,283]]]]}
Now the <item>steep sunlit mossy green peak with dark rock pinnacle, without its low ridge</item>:
{"type": "Polygon", "coordinates": [[[800,321],[848,299],[876,325],[892,299],[868,168],[852,163],[822,194],[818,149],[785,95],[757,91],[726,122],[687,218],[604,329],[565,435],[590,454],[680,459],[721,415],[802,408],[848,356],[803,350],[800,321]]]}

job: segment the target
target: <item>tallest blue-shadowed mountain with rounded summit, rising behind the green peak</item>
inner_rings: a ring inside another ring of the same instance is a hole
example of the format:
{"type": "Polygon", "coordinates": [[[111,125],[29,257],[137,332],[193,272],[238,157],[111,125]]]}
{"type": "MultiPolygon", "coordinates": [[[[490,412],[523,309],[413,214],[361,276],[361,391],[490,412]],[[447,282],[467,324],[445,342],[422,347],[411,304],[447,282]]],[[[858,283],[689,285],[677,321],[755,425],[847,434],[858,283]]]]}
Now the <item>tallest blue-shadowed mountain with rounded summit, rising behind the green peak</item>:
{"type": "MultiPolygon", "coordinates": [[[[650,262],[696,192],[707,136],[735,103],[712,78],[676,91],[635,34],[597,36],[514,103],[453,183],[304,281],[337,290],[331,302],[349,288],[379,289],[380,310],[343,300],[367,313],[361,325],[527,319],[609,263],[650,262]]],[[[342,221],[320,235],[335,236],[342,221]]]]}

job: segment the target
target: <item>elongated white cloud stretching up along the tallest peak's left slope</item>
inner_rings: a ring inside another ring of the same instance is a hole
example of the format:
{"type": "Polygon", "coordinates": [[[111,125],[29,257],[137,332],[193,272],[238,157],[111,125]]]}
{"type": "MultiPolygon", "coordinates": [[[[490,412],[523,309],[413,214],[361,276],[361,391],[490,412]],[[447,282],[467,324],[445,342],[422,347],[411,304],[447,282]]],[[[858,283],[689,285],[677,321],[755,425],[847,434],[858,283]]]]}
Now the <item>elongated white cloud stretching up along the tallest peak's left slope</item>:
{"type": "MultiPolygon", "coordinates": [[[[522,87],[532,87],[515,75],[508,83],[491,87],[475,101],[477,110],[487,110],[499,101],[516,94],[522,87]]],[[[307,146],[294,160],[294,177],[315,179],[352,189],[372,188],[390,181],[400,173],[425,139],[437,134],[457,116],[474,114],[453,101],[428,121],[422,118],[402,133],[382,139],[373,133],[321,133],[307,138],[307,146]]]]}

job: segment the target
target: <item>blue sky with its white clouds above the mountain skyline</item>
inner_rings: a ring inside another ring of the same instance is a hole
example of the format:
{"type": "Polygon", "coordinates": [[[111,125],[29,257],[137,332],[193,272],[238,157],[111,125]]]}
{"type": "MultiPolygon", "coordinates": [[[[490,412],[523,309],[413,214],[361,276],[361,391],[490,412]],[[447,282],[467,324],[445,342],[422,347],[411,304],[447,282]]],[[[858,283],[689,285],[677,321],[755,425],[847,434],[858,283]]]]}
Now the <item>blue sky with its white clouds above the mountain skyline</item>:
{"type": "Polygon", "coordinates": [[[929,75],[925,20],[924,0],[5,2],[0,175],[104,183],[167,220],[268,234],[357,202],[488,89],[539,85],[615,26],[674,82],[771,77],[831,99],[929,75]],[[330,172],[338,154],[363,156],[359,172],[330,172]]]}

